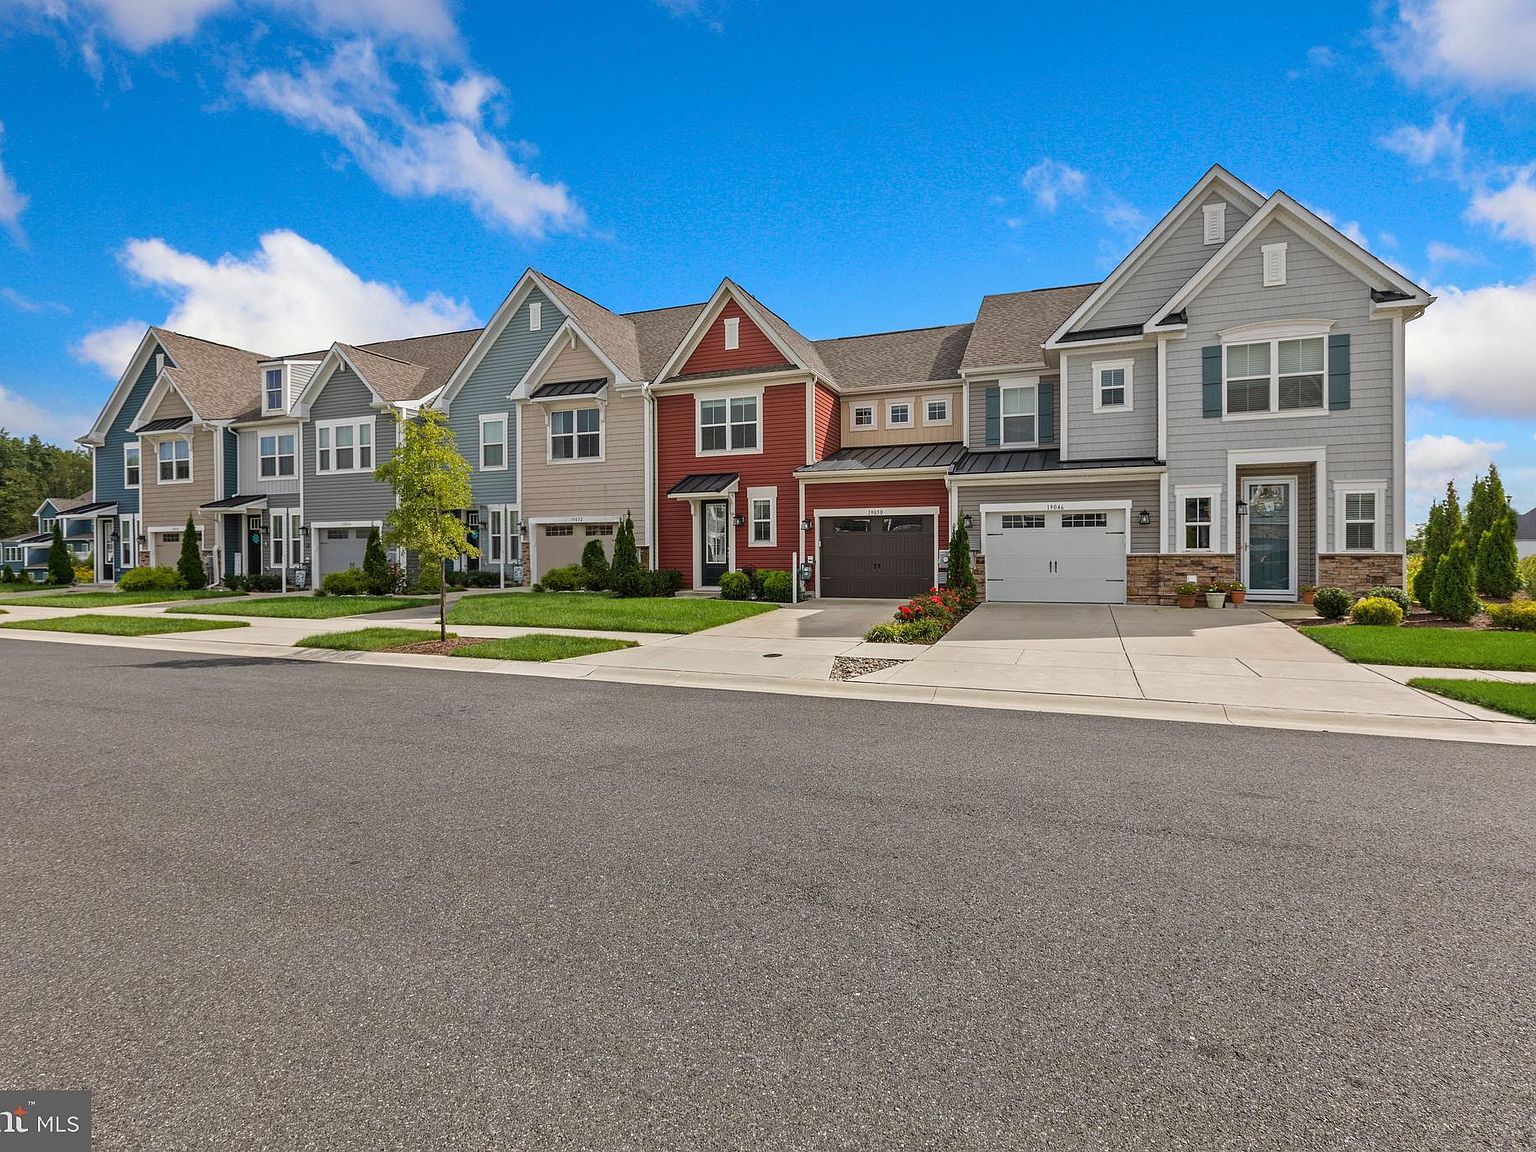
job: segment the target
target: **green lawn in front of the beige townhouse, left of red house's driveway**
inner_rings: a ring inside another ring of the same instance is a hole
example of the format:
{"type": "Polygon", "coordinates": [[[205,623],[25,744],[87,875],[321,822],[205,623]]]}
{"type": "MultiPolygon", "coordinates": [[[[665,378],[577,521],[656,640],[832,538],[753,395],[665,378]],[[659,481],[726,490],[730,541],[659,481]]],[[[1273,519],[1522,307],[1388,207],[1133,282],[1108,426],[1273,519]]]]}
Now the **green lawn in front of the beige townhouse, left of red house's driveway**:
{"type": "Polygon", "coordinates": [[[751,601],[670,596],[621,601],[584,591],[504,591],[461,598],[449,610],[449,624],[690,633],[743,621],[774,607],[751,601]]]}

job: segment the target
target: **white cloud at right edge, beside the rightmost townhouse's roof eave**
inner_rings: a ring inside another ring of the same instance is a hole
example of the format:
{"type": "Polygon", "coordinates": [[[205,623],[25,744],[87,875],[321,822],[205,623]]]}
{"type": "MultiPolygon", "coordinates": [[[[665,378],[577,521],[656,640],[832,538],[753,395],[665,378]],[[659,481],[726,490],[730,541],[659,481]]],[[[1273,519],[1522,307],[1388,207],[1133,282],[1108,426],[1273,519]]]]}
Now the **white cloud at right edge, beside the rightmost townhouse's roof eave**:
{"type": "Polygon", "coordinates": [[[1536,389],[1521,369],[1536,332],[1536,280],[1435,292],[1407,327],[1409,392],[1467,413],[1536,419],[1536,389]]]}

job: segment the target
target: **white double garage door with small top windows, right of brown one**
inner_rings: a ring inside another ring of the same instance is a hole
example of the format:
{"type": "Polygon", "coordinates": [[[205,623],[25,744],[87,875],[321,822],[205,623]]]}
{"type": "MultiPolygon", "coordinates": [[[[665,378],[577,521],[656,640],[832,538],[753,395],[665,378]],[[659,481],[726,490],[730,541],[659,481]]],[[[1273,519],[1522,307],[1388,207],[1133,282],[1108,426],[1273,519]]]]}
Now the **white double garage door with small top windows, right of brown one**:
{"type": "Polygon", "coordinates": [[[986,599],[1126,602],[1126,513],[986,513],[986,599]]]}

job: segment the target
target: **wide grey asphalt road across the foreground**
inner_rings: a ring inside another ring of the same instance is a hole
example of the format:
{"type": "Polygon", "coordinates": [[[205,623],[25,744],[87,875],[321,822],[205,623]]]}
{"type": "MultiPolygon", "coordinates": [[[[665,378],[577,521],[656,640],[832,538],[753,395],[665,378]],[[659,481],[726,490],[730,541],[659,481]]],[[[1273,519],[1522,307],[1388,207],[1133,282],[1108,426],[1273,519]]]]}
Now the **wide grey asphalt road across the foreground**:
{"type": "Polygon", "coordinates": [[[97,1149],[1536,1146],[1528,750],[0,639],[97,1149]]]}

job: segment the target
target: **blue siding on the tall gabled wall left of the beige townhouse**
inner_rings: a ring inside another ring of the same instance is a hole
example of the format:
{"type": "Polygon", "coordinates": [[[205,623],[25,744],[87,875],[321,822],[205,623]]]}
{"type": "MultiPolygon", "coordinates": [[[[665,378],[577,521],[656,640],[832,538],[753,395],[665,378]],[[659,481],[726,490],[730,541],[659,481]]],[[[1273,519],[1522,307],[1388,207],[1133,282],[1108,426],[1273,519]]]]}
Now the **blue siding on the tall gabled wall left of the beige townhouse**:
{"type": "Polygon", "coordinates": [[[475,502],[519,504],[518,501],[518,412],[507,396],[544,352],[544,346],[565,323],[565,313],[538,287],[528,290],[518,310],[507,321],[479,364],[464,381],[464,387],[449,402],[449,427],[464,459],[470,462],[470,484],[475,502]],[[539,327],[530,329],[530,304],[539,304],[539,327]],[[479,418],[482,413],[507,413],[507,467],[481,472],[479,418]]]}

